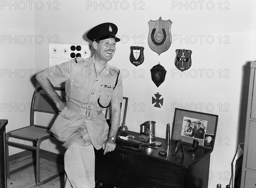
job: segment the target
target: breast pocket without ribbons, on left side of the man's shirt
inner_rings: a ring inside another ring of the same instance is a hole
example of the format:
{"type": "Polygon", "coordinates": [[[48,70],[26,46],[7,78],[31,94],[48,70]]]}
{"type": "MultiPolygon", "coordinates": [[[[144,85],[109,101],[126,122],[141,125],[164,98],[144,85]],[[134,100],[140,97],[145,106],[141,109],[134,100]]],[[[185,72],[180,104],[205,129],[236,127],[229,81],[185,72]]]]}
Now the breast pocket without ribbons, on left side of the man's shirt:
{"type": "Polygon", "coordinates": [[[73,80],[70,83],[70,87],[68,89],[67,95],[73,100],[82,102],[84,100],[84,97],[87,94],[87,88],[88,88],[88,83],[82,80],[73,78],[73,80]]]}

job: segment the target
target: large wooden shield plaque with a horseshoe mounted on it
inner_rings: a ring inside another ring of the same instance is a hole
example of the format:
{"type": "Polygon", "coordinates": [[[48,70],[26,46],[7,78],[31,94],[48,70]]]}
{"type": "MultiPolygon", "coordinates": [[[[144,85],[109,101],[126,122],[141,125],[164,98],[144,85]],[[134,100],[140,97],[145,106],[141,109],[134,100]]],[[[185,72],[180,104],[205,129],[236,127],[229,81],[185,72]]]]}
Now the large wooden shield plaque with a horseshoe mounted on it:
{"type": "Polygon", "coordinates": [[[155,51],[158,55],[167,51],[172,44],[171,35],[171,20],[159,20],[148,22],[149,33],[148,33],[148,46],[151,50],[155,51]]]}

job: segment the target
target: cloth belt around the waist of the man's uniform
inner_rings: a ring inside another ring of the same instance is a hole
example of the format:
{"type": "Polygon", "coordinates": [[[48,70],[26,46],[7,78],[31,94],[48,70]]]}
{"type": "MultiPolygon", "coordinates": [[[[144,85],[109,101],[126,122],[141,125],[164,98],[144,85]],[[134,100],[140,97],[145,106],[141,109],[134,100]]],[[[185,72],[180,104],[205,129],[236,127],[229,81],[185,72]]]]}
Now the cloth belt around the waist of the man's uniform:
{"type": "Polygon", "coordinates": [[[88,119],[88,120],[90,120],[93,117],[96,117],[97,115],[102,113],[102,110],[94,111],[94,110],[90,110],[90,109],[81,108],[78,105],[76,105],[70,101],[67,101],[66,107],[69,110],[76,112],[76,114],[83,115],[85,117],[85,119],[88,119]]]}

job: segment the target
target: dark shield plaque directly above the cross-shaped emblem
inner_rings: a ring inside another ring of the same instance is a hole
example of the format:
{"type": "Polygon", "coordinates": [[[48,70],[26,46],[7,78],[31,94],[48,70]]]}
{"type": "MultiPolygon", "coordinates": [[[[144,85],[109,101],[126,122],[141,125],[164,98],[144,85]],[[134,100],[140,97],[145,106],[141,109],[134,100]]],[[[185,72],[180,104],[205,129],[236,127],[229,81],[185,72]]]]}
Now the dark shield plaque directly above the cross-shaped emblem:
{"type": "Polygon", "coordinates": [[[154,82],[155,85],[157,85],[157,88],[159,85],[163,83],[166,76],[166,69],[158,63],[156,66],[153,66],[151,69],[151,79],[154,82]]]}

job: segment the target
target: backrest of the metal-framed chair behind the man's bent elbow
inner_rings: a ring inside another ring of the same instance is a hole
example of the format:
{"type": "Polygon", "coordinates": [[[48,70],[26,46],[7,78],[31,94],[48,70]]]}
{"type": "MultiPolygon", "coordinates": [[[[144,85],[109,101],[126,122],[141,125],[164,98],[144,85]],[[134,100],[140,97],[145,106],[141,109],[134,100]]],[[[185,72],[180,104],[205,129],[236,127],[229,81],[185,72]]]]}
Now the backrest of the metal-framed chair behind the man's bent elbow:
{"type": "MultiPolygon", "coordinates": [[[[62,100],[65,101],[65,89],[53,87],[62,100]]],[[[58,116],[58,108],[41,88],[37,88],[32,97],[30,125],[50,128],[58,116]]]]}

